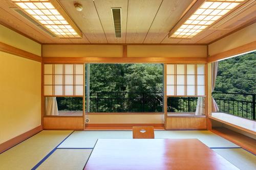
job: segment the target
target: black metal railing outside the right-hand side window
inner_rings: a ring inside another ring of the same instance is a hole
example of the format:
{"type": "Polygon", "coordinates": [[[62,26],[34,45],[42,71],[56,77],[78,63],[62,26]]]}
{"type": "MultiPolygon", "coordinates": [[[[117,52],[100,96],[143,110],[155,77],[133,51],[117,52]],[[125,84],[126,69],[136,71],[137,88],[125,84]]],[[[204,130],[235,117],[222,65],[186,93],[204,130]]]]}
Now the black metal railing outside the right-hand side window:
{"type": "Polygon", "coordinates": [[[255,94],[212,92],[219,111],[255,120],[255,94]]]}

